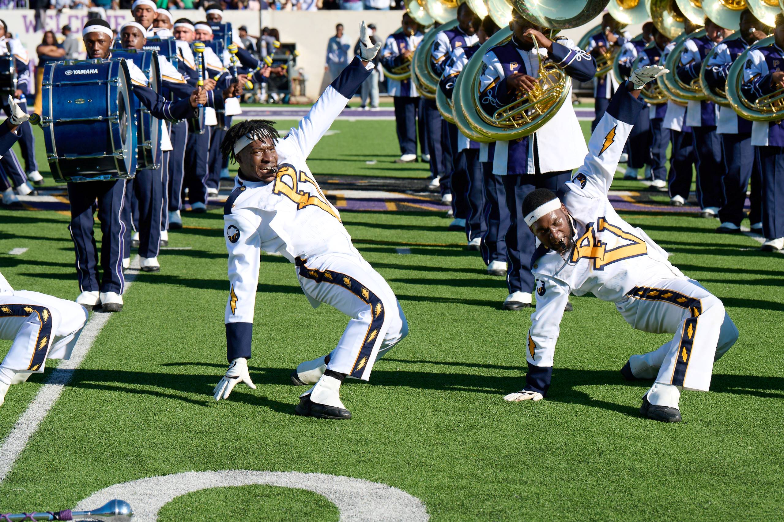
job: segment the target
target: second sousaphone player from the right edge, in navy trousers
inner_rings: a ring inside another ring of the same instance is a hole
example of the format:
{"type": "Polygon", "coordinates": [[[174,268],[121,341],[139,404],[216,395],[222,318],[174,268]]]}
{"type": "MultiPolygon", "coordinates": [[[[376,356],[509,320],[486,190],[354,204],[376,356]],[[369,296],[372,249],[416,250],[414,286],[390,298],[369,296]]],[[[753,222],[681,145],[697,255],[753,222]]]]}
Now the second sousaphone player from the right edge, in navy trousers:
{"type": "MultiPolygon", "coordinates": [[[[746,9],[740,15],[740,31],[737,38],[729,38],[716,46],[713,55],[708,59],[705,70],[705,81],[710,88],[724,91],[727,74],[735,59],[754,42],[768,36],[772,31],[765,26],[753,13],[746,9]]],[[[746,204],[746,189],[752,179],[751,211],[749,218],[751,229],[761,231],[760,215],[760,172],[754,159],[751,144],[752,122],[740,117],[732,107],[719,107],[719,120],[716,132],[721,140],[724,152],[724,205],[719,209],[721,225],[716,232],[740,232],[743,220],[743,206],[746,204]]]]}

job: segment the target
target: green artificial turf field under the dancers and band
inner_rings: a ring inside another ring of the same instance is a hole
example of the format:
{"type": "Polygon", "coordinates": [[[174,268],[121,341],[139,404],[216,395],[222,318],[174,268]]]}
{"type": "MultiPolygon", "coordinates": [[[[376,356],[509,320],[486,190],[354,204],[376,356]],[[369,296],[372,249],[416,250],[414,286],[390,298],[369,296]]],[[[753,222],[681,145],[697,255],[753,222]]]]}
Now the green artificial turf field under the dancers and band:
{"type": "MultiPolygon", "coordinates": [[[[366,122],[336,122],[341,132],[326,137],[309,161],[314,173],[362,174],[345,159],[355,154],[359,164],[371,154],[365,142],[349,139],[352,127],[344,123],[366,122]]],[[[393,129],[390,121],[367,123],[365,138],[393,129]]],[[[384,140],[372,143],[390,147],[384,140]]],[[[670,337],[631,329],[613,304],[593,297],[572,297],[575,311],[561,324],[548,397],[503,401],[524,383],[531,311],[500,310],[503,278],[486,275],[477,253],[465,250],[465,236],[446,231],[442,212],[427,211],[341,213],[410,326],[376,363],[370,383],[343,385],[353,419],[293,415],[304,389],[290,384],[289,373],[332,350],[347,319],[327,306],[310,308],[294,267],[268,255],[249,362],[257,389],[240,384],[228,401],[215,403],[212,387],[227,367],[229,289],[223,216],[213,208],[186,213],[188,228],[171,232],[169,246],[191,250],[162,250],[162,272],[138,275],[125,293],[124,311],[107,322],[0,483],[0,513],[72,507],[101,488],[143,477],[272,470],[389,484],[421,499],[434,521],[781,520],[784,257],[760,252],[755,239],[715,234],[714,220],[621,214],[720,297],[740,331],[714,365],[712,390],[682,395],[683,423],[641,418],[649,384],[627,383],[619,373],[629,355],[670,337]],[[400,247],[411,254],[397,254],[400,247]]],[[[0,210],[0,271],[13,286],[78,294],[67,221],[53,211],[0,210]],[[29,250],[6,254],[15,247],[29,250]]],[[[0,353],[8,346],[0,342],[0,353]]],[[[11,388],[0,408],[0,437],[42,380],[11,388]]],[[[180,497],[160,520],[216,513],[336,518],[317,495],[249,486],[180,497]]]]}

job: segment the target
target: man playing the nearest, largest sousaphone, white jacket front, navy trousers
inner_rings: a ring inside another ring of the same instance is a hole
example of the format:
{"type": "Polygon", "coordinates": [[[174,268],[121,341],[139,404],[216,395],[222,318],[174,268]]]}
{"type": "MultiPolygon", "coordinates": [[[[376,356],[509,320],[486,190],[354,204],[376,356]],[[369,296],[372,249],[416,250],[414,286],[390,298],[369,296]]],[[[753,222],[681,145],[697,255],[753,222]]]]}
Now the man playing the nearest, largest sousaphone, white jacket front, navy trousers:
{"type": "MultiPolygon", "coordinates": [[[[596,63],[587,52],[565,37],[550,40],[543,34],[543,27],[526,20],[517,10],[512,13],[510,29],[512,38],[483,57],[479,99],[485,113],[493,114],[539,88],[537,77],[543,52],[543,61],[554,63],[577,81],[589,81],[596,74],[596,63]]],[[[492,146],[492,173],[499,176],[506,200],[506,206],[499,207],[502,212],[509,212],[508,217],[501,217],[502,223],[509,223],[505,231],[509,296],[503,308],[517,310],[532,302],[534,278],[530,261],[535,239],[522,223],[522,200],[535,189],[555,189],[568,182],[572,169],[582,164],[586,152],[583,131],[571,103],[561,105],[552,119],[531,135],[497,141],[492,146]],[[569,146],[564,147],[564,143],[569,146]]]]}

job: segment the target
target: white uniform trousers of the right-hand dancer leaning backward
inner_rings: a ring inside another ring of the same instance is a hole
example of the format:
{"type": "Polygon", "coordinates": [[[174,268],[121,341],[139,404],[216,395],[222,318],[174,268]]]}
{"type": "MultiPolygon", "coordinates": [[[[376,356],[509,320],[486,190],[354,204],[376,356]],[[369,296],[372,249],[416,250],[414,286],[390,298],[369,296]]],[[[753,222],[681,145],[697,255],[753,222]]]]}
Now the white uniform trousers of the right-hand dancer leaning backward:
{"type": "Polygon", "coordinates": [[[661,279],[635,286],[627,295],[615,307],[630,326],[674,334],[657,350],[630,357],[634,376],[708,391],[713,362],[738,339],[719,298],[693,279],[661,279]]]}

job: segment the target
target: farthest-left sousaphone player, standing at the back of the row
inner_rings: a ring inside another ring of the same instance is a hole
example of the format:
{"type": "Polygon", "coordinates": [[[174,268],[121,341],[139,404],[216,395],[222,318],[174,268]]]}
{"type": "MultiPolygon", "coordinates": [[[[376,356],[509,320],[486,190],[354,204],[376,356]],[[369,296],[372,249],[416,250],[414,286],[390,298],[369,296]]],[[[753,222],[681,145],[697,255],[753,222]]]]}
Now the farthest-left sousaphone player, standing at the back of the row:
{"type": "MultiPolygon", "coordinates": [[[[423,34],[419,24],[408,13],[403,14],[402,30],[390,34],[384,43],[381,63],[387,70],[394,70],[410,63],[414,49],[422,41],[423,34]]],[[[394,119],[397,128],[397,142],[400,143],[401,157],[398,163],[416,161],[416,113],[419,106],[419,92],[416,92],[411,77],[404,80],[387,78],[387,92],[394,99],[394,119]]]]}

